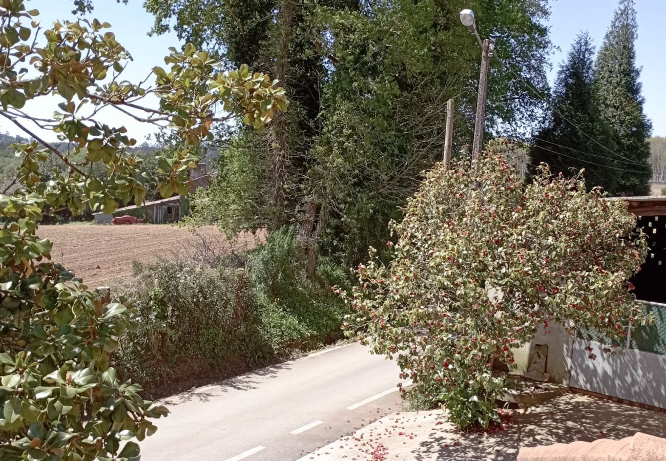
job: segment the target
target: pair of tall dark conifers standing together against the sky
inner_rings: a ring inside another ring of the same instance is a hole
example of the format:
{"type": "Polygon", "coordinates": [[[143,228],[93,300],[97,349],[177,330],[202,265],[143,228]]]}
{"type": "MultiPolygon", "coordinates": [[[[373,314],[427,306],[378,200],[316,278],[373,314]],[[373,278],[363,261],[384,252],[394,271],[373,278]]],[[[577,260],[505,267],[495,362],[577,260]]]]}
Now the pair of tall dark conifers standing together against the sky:
{"type": "Polygon", "coordinates": [[[589,188],[649,194],[652,126],[635,63],[637,29],[634,0],[621,0],[596,57],[589,34],[578,35],[559,67],[544,127],[533,137],[533,169],[541,162],[567,176],[585,169],[589,188]]]}

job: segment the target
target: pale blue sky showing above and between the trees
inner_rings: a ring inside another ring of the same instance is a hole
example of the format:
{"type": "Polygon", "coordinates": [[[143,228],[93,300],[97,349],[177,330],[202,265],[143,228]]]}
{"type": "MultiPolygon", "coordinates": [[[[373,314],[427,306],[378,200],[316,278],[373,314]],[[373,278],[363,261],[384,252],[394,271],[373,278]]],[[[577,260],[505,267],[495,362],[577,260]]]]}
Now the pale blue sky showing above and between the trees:
{"type": "MultiPolygon", "coordinates": [[[[549,20],[550,39],[559,49],[551,55],[553,68],[549,71],[549,79],[555,79],[558,65],[566,57],[566,53],[576,35],[583,30],[589,31],[598,47],[608,29],[617,0],[551,0],[551,18],[549,20]]],[[[39,9],[43,25],[51,24],[56,19],[71,19],[72,2],[70,0],[29,0],[28,9],[39,9]],[[63,14],[65,13],[65,14],[63,14]]],[[[142,81],[155,65],[163,65],[163,57],[168,54],[168,47],[182,45],[174,33],[149,37],[147,33],[153,25],[153,16],[143,9],[143,0],[129,0],[129,5],[118,5],[113,0],[94,0],[93,17],[107,21],[113,26],[111,30],[117,40],[128,49],[134,61],[127,65],[123,73],[125,79],[133,82],[142,81]]],[[[653,135],[666,136],[666,91],[663,80],[666,78],[666,61],[659,57],[662,53],[661,27],[666,17],[666,0],[637,0],[639,36],[636,43],[637,65],[643,67],[641,81],[645,97],[645,113],[653,122],[653,135]]],[[[492,83],[491,83],[492,84],[492,83]]],[[[156,101],[148,101],[155,106],[156,101]]],[[[28,103],[26,111],[51,113],[55,102],[28,103]]],[[[154,131],[151,126],[141,126],[129,117],[114,109],[105,109],[99,113],[102,121],[110,125],[125,125],[129,135],[139,143],[146,141],[154,131]]],[[[0,120],[0,132],[12,135],[23,134],[5,119],[0,120]]],[[[37,131],[54,139],[53,133],[37,131]]]]}

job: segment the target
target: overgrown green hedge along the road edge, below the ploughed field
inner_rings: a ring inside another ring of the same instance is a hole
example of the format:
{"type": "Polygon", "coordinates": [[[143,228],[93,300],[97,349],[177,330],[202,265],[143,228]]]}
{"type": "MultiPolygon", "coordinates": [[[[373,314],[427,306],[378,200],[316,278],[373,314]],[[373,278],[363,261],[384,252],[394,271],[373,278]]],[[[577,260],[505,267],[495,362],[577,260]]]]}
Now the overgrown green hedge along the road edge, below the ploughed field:
{"type": "MultiPolygon", "coordinates": [[[[122,338],[116,360],[153,396],[342,336],[347,311],[329,287],[344,280],[306,280],[292,229],[246,254],[136,264],[135,272],[139,284],[125,297],[139,326],[122,338]]],[[[344,275],[324,261],[322,274],[330,272],[344,275]]]]}

